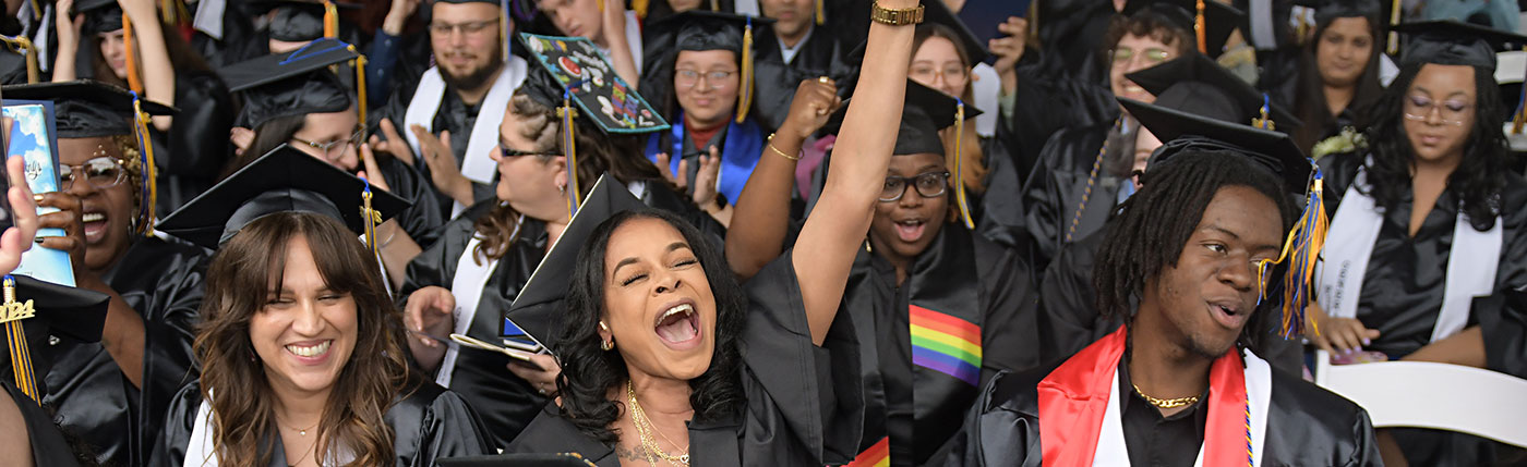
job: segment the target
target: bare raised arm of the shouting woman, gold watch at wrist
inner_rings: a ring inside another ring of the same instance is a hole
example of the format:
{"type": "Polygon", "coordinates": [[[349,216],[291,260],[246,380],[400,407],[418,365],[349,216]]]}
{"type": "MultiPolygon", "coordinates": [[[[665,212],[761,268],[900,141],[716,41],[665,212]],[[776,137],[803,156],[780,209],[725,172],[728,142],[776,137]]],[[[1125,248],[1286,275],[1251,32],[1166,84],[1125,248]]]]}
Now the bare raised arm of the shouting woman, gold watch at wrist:
{"type": "MultiPolygon", "coordinates": [[[[918,6],[918,2],[881,0],[880,6],[904,9],[918,6]]],[[[875,60],[864,61],[854,92],[863,99],[849,104],[834,145],[828,183],[796,240],[796,278],[806,305],[811,340],[817,345],[826,339],[838,313],[854,255],[864,243],[875,200],[886,183],[907,93],[912,34],[912,24],[870,24],[864,56],[875,60]]]]}

